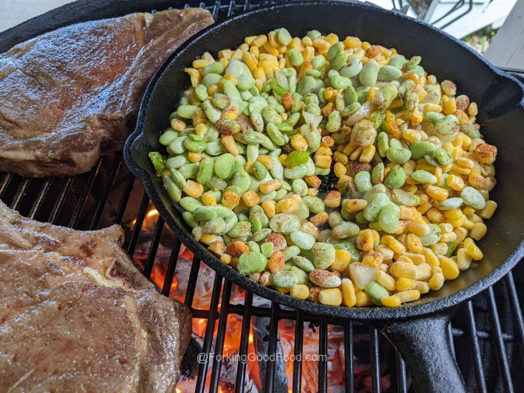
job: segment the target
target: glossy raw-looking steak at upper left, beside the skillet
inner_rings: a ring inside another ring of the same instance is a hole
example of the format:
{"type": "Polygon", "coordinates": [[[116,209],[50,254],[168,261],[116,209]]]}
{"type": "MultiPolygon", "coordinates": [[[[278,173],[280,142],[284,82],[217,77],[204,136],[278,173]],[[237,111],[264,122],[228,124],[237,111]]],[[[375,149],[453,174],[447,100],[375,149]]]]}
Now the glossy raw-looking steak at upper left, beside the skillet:
{"type": "Polygon", "coordinates": [[[213,23],[202,8],[79,23],[0,55],[0,171],[64,176],[122,148],[174,49],[213,23]]]}

